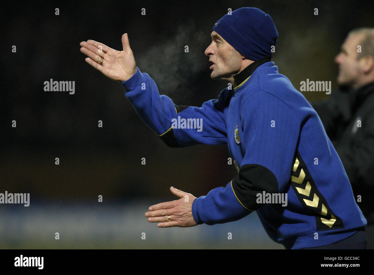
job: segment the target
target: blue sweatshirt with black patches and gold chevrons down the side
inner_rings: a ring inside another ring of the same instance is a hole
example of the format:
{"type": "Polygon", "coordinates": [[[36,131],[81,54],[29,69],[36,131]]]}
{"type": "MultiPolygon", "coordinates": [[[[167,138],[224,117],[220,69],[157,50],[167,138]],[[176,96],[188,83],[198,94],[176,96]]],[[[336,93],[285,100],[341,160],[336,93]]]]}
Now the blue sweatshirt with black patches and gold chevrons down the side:
{"type": "Polygon", "coordinates": [[[239,85],[202,107],[175,105],[138,67],[121,84],[169,146],[228,144],[238,174],[194,200],[196,223],[226,223],[257,211],[270,238],[287,249],[346,239],[367,221],[343,164],[316,111],[269,60],[249,65],[234,76],[239,85]]]}

